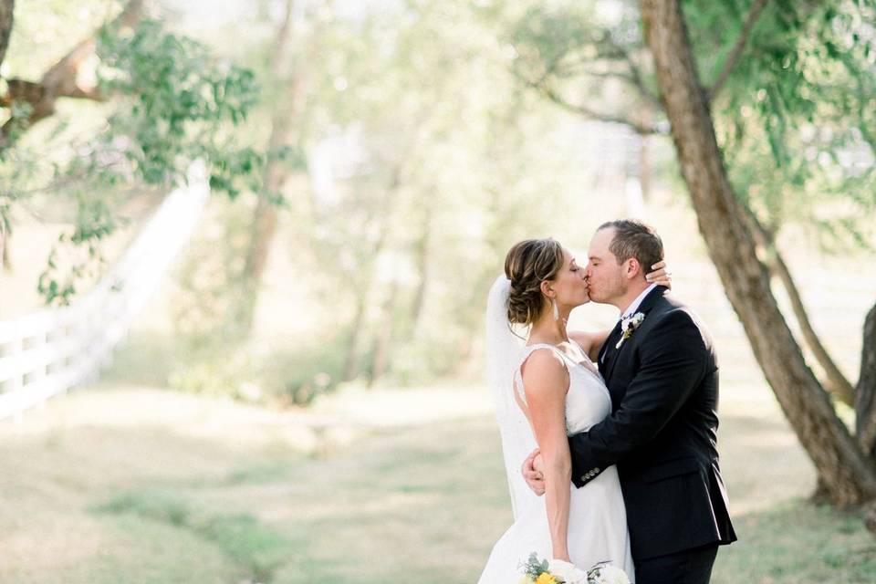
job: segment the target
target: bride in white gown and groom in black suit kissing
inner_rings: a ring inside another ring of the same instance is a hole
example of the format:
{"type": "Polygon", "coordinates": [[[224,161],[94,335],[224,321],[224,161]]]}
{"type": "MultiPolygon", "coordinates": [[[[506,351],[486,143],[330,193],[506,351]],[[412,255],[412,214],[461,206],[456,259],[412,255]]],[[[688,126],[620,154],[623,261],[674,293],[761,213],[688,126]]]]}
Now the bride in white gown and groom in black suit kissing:
{"type": "Polygon", "coordinates": [[[519,581],[532,553],[638,584],[704,584],[735,541],[712,338],[671,287],[660,236],[635,220],[602,224],[586,266],[554,239],[508,251],[487,303],[487,371],[515,521],[480,584],[519,581]],[[615,327],[568,330],[590,301],[619,309],[615,327]]]}

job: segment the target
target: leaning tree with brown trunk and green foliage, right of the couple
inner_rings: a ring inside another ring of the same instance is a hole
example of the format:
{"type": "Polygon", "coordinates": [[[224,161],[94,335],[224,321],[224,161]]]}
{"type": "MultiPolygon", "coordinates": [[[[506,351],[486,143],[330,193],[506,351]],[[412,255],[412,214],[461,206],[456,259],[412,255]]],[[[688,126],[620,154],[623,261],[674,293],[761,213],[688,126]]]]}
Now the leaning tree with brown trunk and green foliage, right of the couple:
{"type": "Polygon", "coordinates": [[[856,389],[812,328],[776,241],[783,225],[800,224],[834,251],[871,248],[876,92],[853,79],[873,77],[874,5],[643,3],[640,14],[616,3],[602,19],[598,5],[527,13],[515,36],[520,78],[566,110],[629,126],[642,151],[670,122],[709,255],[822,486],[840,504],[870,500],[876,307],[856,389]],[[631,98],[606,99],[612,84],[631,98]],[[823,381],[787,328],[770,276],[791,298],[823,381]],[[857,443],[825,390],[851,406],[857,394],[857,443]]]}

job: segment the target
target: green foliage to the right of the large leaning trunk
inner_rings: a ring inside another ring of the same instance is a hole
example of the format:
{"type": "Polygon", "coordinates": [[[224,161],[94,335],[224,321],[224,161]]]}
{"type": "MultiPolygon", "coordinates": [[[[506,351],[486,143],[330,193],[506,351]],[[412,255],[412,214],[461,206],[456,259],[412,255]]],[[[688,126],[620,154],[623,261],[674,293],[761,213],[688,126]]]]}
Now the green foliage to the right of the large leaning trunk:
{"type": "MultiPolygon", "coordinates": [[[[735,42],[753,4],[685,4],[706,84],[725,62],[715,53],[735,42]],[[716,51],[719,18],[725,26],[716,51]]],[[[831,249],[856,247],[872,233],[872,197],[853,193],[876,186],[869,130],[876,127],[876,62],[873,39],[862,34],[874,18],[871,0],[768,3],[712,104],[735,192],[763,223],[801,224],[831,249]]]]}

